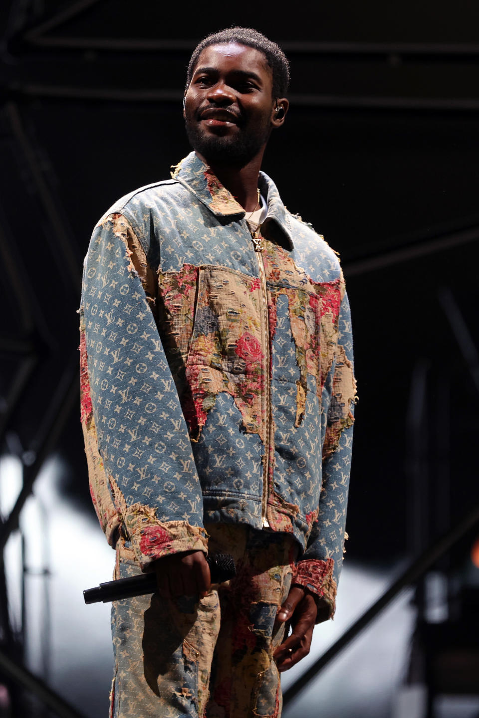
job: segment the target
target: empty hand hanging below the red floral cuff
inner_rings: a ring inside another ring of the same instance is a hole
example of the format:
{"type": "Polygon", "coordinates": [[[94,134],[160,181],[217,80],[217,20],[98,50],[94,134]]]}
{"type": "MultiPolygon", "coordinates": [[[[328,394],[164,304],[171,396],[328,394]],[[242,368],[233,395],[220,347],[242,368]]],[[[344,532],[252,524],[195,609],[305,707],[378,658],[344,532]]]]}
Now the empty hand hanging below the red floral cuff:
{"type": "Polygon", "coordinates": [[[293,632],[276,651],[274,660],[280,672],[288,671],[310,653],[312,630],[315,628],[317,607],[315,597],[300,586],[293,586],[287,600],[276,615],[278,623],[291,621],[293,632]]]}

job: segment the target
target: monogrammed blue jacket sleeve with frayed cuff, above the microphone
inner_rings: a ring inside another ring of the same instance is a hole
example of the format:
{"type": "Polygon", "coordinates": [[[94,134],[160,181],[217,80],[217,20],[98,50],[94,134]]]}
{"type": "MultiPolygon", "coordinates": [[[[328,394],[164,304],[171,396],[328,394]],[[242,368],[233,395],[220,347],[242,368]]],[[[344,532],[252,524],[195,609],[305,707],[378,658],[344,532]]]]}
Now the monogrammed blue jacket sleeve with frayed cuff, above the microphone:
{"type": "Polygon", "coordinates": [[[119,526],[145,569],[166,554],[206,553],[207,541],[187,426],[132,244],[141,247],[129,220],[111,214],[85,258],[82,422],[102,528],[113,544],[119,526]]]}

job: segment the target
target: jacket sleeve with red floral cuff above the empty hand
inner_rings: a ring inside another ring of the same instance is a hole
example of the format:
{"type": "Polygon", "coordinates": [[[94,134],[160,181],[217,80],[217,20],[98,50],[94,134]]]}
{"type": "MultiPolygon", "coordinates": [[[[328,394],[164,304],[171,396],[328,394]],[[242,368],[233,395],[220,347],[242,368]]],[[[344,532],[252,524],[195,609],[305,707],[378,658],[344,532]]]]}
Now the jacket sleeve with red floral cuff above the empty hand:
{"type": "Polygon", "coordinates": [[[347,294],[338,317],[338,348],[323,393],[322,489],[317,520],[297,564],[295,583],[322,597],[335,612],[343,563],[346,508],[353,445],[353,338],[347,294]]]}

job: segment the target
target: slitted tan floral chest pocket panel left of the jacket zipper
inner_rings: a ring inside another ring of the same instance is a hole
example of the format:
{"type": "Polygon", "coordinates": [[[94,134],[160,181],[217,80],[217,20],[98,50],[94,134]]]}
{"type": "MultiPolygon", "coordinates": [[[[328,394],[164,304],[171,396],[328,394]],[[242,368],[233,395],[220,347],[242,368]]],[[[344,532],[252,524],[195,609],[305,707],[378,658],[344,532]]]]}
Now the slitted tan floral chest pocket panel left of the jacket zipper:
{"type": "Polygon", "coordinates": [[[233,396],[246,431],[261,435],[264,356],[259,279],[200,266],[183,404],[192,439],[220,392],[233,396]]]}

